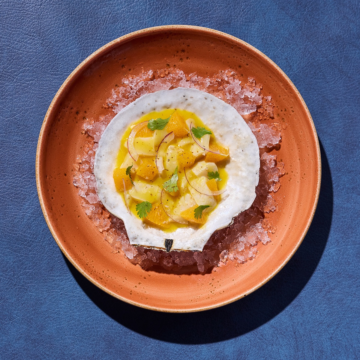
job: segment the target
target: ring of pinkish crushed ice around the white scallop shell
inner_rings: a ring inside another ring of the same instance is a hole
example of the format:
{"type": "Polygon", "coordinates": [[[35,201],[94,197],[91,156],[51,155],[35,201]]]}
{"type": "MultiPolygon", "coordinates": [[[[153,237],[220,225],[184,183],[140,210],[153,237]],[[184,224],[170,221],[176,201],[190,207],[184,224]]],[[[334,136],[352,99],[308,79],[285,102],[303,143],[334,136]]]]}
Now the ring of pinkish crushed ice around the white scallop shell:
{"type": "Polygon", "coordinates": [[[273,100],[263,96],[262,86],[254,78],[242,83],[231,71],[220,72],[210,78],[193,73],[185,75],[179,70],[162,69],[154,73],[144,72],[138,77],[122,79],[122,86],[112,91],[107,99],[109,114],[96,119],[86,119],[84,152],[74,163],[73,184],[79,189],[81,204],[96,228],[104,234],[105,240],[114,252],[123,252],[133,263],[144,269],[153,265],[168,270],[178,270],[183,266],[197,266],[204,273],[213,266],[221,266],[228,260],[244,263],[255,258],[257,245],[270,242],[269,233],[276,228],[268,222],[264,213],[276,210],[272,196],[279,190],[279,178],[284,175],[284,164],[269,154],[281,140],[279,126],[273,122],[273,100]],[[256,136],[260,148],[260,179],[256,188],[256,199],[248,210],[234,218],[233,224],[216,231],[208,240],[202,252],[167,253],[162,250],[146,249],[130,245],[122,220],[112,216],[102,205],[97,195],[93,174],[95,152],[106,126],[123,107],[144,94],[174,87],[193,87],[211,93],[232,105],[243,115],[256,136]]]}

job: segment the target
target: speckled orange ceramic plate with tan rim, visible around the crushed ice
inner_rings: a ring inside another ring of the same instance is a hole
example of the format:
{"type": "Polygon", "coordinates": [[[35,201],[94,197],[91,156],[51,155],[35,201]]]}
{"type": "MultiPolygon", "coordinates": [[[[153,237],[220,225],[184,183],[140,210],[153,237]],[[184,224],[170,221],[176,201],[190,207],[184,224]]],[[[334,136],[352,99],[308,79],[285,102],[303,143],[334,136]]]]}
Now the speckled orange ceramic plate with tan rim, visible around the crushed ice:
{"type": "Polygon", "coordinates": [[[293,256],[309,229],[320,189],[320,150],[314,123],[301,95],[284,72],[246,42],[195,26],[160,26],[133,32],[95,51],[66,79],[41,128],[36,181],[46,222],[71,263],[105,292],[131,304],[169,312],[200,311],[253,292],[293,256]],[[82,116],[99,117],[115,84],[141,68],[166,64],[208,76],[234,69],[254,76],[275,101],[283,126],[278,158],[287,174],[275,194],[278,210],[267,216],[277,227],[255,260],[228,262],[210,274],[145,271],[112,253],[82,209],[72,185],[73,163],[82,153],[82,116]],[[80,113],[80,114],[79,114],[80,113]]]}

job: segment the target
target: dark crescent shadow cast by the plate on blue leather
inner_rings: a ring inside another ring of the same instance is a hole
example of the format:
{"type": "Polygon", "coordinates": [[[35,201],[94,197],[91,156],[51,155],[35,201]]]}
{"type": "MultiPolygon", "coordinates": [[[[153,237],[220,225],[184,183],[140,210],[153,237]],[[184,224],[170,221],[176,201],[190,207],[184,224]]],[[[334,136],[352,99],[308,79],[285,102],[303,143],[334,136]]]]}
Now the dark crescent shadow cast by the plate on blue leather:
{"type": "Polygon", "coordinates": [[[75,280],[89,298],[123,326],[162,341],[201,344],[245,334],[282,312],[314,273],[325,249],[333,213],[329,163],[320,143],[322,179],[318,207],[300,248],[273,279],[249,296],[218,309],[190,314],[145,310],[117,300],[82,276],[65,258],[75,280]]]}

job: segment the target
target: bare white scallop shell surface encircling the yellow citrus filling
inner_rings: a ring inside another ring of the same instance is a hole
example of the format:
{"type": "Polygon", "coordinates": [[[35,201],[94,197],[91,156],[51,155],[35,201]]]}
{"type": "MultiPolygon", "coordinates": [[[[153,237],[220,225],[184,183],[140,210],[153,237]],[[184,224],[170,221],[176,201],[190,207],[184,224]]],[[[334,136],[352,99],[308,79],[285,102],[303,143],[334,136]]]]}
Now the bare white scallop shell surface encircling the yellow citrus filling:
{"type": "Polygon", "coordinates": [[[123,220],[130,243],[165,248],[165,239],[173,239],[172,250],[202,251],[210,236],[228,226],[233,217],[248,209],[259,181],[259,148],[252,131],[229,104],[197,89],[178,87],[160,90],[136,99],[109,123],[96,151],[94,174],[99,198],[113,215],[123,220]],[[178,228],[169,233],[149,226],[127,211],[123,197],[116,191],[113,171],[121,138],[129,125],[152,111],[179,108],[195,113],[222,144],[229,147],[226,165],[228,183],[222,199],[201,227],[178,228]]]}

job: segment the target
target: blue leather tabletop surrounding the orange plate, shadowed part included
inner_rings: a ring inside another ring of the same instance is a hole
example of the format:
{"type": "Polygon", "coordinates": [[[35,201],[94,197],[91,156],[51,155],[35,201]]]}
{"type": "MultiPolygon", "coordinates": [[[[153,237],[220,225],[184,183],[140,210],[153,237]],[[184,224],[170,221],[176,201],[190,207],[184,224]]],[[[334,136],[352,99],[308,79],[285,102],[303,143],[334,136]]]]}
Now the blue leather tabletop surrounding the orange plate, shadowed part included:
{"type": "Polygon", "coordinates": [[[1,1],[0,359],[359,359],[359,1],[1,1]],[[275,61],[310,109],[323,180],[310,231],[243,300],[161,314],[115,300],[62,256],[40,209],[37,138],[69,73],[140,28],[193,24],[275,61]]]}

